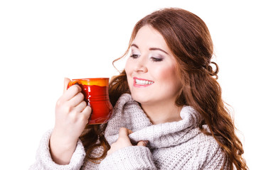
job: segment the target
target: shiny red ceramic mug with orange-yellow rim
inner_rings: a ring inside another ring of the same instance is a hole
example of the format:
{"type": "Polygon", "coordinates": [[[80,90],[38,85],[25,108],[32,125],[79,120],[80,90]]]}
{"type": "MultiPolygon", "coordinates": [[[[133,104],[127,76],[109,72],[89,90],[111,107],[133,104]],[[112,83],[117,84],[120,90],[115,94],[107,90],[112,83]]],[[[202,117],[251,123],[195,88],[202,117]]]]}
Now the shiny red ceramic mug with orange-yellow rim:
{"type": "Polygon", "coordinates": [[[78,84],[82,88],[85,102],[92,108],[88,125],[107,123],[111,118],[113,107],[108,93],[109,78],[73,79],[68,88],[78,84]]]}

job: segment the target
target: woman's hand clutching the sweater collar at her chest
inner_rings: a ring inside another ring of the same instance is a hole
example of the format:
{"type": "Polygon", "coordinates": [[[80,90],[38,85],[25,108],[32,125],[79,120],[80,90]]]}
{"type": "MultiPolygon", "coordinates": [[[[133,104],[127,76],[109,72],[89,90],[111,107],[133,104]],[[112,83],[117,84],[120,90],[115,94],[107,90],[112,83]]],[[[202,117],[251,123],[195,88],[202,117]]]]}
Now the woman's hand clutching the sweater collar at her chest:
{"type": "MultiPolygon", "coordinates": [[[[122,149],[124,147],[132,146],[131,141],[129,140],[128,135],[132,133],[132,130],[127,128],[120,128],[119,129],[119,137],[116,142],[112,143],[110,150],[107,152],[107,155],[112,154],[113,152],[122,149]]],[[[147,141],[139,141],[137,146],[144,146],[146,147],[147,141]]]]}

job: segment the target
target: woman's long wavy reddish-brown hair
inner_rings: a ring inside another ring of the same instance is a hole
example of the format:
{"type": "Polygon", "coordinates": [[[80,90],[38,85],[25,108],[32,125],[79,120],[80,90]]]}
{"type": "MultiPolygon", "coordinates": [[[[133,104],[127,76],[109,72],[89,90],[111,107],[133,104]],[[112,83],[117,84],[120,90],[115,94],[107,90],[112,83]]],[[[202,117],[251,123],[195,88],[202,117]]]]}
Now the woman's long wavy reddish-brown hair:
{"type": "MultiPolygon", "coordinates": [[[[245,159],[242,158],[244,153],[242,142],[235,135],[233,119],[221,96],[220,84],[217,81],[218,64],[211,62],[213,41],[206,23],[195,14],[181,8],[164,8],[155,11],[142,18],[134,26],[129,47],[122,57],[128,55],[132,41],[139,29],[146,25],[161,33],[176,58],[178,74],[182,83],[182,89],[176,98],[176,105],[192,106],[203,116],[199,128],[206,135],[212,135],[222,147],[226,155],[225,163],[230,169],[234,169],[234,167],[247,169],[245,159]],[[213,65],[215,69],[213,69],[213,65]],[[210,132],[204,130],[203,125],[208,125],[210,132]]],[[[129,93],[125,71],[112,77],[109,92],[113,105],[119,96],[129,93]]],[[[98,128],[95,129],[99,131],[98,128]]],[[[103,131],[104,127],[102,134],[104,134],[103,131]]],[[[109,145],[104,141],[105,138],[102,137],[100,143],[105,148],[103,153],[106,154],[109,145]]],[[[105,154],[102,154],[100,158],[105,157],[105,154]]]]}

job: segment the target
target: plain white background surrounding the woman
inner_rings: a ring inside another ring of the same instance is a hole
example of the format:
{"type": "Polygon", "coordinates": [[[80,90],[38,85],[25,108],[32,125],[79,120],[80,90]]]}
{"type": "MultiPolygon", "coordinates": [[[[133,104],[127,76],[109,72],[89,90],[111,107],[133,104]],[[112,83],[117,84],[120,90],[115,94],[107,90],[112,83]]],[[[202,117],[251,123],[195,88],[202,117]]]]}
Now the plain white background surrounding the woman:
{"type": "Polygon", "coordinates": [[[208,25],[223,99],[256,169],[256,6],[246,0],[0,1],[1,167],[28,169],[41,136],[53,128],[64,77],[117,74],[112,60],[126,50],[134,24],[164,7],[184,8],[208,25]]]}

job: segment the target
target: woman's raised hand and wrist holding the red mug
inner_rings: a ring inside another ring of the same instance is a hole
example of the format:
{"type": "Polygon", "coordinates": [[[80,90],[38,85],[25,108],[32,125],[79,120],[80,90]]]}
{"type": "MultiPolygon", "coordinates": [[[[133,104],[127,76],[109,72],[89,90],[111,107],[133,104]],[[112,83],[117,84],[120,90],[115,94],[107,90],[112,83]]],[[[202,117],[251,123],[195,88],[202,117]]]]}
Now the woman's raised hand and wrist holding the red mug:
{"type": "Polygon", "coordinates": [[[66,90],[69,81],[70,79],[65,79],[63,96],[56,103],[55,126],[50,137],[50,152],[57,164],[70,162],[78,138],[92,112],[84,101],[80,86],[73,85],[66,90]]]}

